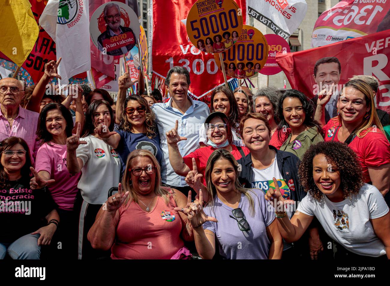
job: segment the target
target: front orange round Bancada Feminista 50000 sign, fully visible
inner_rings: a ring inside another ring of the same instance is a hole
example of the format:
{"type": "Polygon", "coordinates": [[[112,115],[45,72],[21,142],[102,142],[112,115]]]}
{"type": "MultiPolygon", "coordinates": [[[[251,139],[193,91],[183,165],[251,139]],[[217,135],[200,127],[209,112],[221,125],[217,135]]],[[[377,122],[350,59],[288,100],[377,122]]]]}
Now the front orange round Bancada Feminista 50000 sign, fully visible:
{"type": "Polygon", "coordinates": [[[206,53],[221,53],[239,39],[243,16],[233,0],[198,0],[187,16],[192,44],[206,53]]]}

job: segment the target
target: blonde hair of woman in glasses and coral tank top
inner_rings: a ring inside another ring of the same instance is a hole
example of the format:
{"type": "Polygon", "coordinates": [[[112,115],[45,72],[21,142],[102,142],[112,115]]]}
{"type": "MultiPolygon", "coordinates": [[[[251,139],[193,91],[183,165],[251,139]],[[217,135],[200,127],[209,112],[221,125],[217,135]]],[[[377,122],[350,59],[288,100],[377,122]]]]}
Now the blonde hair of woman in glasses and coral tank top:
{"type": "Polygon", "coordinates": [[[129,156],[127,157],[126,170],[124,171],[124,174],[122,177],[122,182],[121,182],[123,192],[126,193],[127,191],[129,191],[129,196],[126,198],[126,201],[124,202],[125,205],[127,204],[126,207],[128,207],[130,205],[130,204],[128,204],[128,202],[133,202],[133,201],[136,203],[138,202],[138,196],[137,196],[137,193],[134,189],[134,186],[133,186],[133,184],[130,184],[131,171],[129,171],[129,169],[131,169],[131,164],[132,164],[133,160],[137,157],[148,157],[148,158],[150,158],[150,160],[152,160],[154,167],[156,167],[156,171],[155,171],[156,182],[154,184],[154,193],[157,196],[163,197],[165,200],[165,203],[169,204],[169,198],[168,198],[169,191],[167,188],[161,187],[161,167],[160,167],[160,164],[158,163],[156,157],[154,157],[154,155],[148,150],[136,149],[133,152],[131,152],[129,154],[129,156]]]}

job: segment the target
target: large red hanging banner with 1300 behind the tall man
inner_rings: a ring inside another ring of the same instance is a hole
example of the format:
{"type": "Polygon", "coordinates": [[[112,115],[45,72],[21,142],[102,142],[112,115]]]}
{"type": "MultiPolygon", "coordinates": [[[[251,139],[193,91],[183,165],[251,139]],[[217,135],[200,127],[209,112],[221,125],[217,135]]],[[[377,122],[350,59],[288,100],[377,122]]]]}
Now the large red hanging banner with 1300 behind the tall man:
{"type": "MultiPolygon", "coordinates": [[[[196,0],[152,0],[153,40],[152,70],[162,79],[176,65],[187,68],[191,76],[189,93],[201,98],[215,86],[223,84],[223,74],[213,54],[205,54],[188,39],[186,25],[188,12],[196,0]]],[[[246,1],[236,0],[246,23],[246,1]]]]}

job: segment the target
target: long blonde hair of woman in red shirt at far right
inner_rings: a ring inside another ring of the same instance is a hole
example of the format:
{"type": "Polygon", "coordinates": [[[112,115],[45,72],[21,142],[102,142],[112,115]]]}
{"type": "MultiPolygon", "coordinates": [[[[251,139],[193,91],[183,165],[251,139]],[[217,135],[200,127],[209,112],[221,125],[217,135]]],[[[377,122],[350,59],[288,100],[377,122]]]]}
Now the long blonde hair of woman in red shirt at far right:
{"type": "MultiPolygon", "coordinates": [[[[383,132],[383,134],[385,134],[381,121],[379,120],[378,114],[376,113],[374,95],[372,93],[371,87],[360,79],[348,81],[343,89],[347,87],[354,88],[363,93],[366,101],[366,106],[371,107],[369,111],[369,118],[363,118],[362,123],[358,126],[358,128],[356,128],[356,136],[359,138],[363,138],[368,132],[373,132],[373,130],[369,129],[372,126],[376,126],[377,128],[379,128],[379,130],[383,132]]],[[[342,122],[340,114],[339,122],[342,122]]]]}

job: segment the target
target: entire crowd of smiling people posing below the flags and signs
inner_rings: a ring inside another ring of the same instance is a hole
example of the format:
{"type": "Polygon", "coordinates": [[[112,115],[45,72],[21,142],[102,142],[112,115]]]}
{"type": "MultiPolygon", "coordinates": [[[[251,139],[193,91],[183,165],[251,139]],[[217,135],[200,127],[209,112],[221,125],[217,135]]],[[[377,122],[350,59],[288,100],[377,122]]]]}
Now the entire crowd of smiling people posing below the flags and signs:
{"type": "Polygon", "coordinates": [[[1,259],[390,258],[374,77],[324,79],[315,102],[220,86],[207,105],[173,67],[168,101],[142,84],[127,95],[125,73],[114,102],[88,86],[48,93],[59,62],[33,87],[0,80],[1,259]]]}

